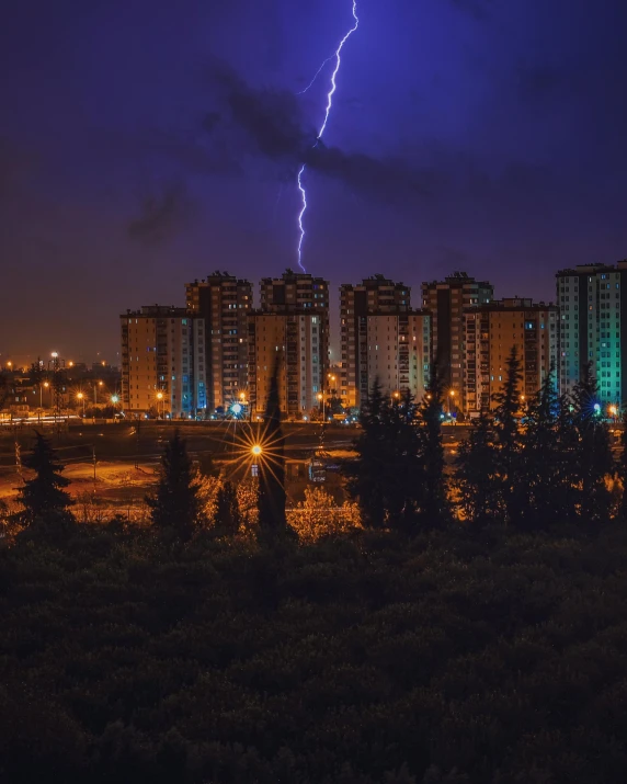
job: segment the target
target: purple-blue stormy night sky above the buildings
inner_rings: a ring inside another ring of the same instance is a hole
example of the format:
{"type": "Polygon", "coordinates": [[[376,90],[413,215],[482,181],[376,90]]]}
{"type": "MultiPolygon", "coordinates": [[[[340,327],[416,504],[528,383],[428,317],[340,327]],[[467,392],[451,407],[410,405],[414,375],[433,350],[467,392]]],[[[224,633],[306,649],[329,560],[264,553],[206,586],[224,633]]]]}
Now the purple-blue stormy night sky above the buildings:
{"type": "Polygon", "coordinates": [[[0,362],[116,361],[118,315],[220,269],[465,270],[552,298],[627,255],[620,0],[22,0],[0,25],[0,362]]]}

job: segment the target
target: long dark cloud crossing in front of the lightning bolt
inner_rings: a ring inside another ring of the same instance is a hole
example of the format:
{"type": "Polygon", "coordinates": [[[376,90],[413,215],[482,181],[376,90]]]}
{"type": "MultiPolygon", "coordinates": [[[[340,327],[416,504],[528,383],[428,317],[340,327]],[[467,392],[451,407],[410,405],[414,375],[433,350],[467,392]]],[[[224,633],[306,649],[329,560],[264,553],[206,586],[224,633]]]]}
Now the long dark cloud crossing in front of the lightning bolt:
{"type": "MultiPolygon", "coordinates": [[[[223,106],[221,121],[218,123],[217,113],[212,112],[204,127],[209,128],[212,138],[221,143],[225,134],[220,133],[220,126],[231,123],[240,133],[241,155],[259,155],[290,171],[306,163],[310,170],[338,180],[355,192],[386,202],[429,195],[437,186],[436,172],[418,170],[407,161],[346,152],[327,147],[322,141],[316,144],[316,132],[306,127],[300,103],[290,92],[255,90],[223,65],[213,69],[212,78],[223,106]]],[[[236,139],[230,129],[226,136],[231,143],[236,139]]],[[[283,178],[284,172],[280,177],[283,178]]]]}

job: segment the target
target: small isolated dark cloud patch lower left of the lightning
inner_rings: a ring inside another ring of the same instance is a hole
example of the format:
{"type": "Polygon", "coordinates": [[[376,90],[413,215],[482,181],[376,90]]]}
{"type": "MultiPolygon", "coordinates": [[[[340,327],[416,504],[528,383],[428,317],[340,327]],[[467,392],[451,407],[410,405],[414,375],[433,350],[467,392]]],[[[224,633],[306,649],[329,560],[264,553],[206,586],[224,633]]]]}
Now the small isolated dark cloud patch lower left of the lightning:
{"type": "Polygon", "coordinates": [[[128,224],[128,236],[147,245],[158,245],[173,237],[195,212],[194,201],[182,182],[168,183],[147,196],[141,214],[128,224]]]}

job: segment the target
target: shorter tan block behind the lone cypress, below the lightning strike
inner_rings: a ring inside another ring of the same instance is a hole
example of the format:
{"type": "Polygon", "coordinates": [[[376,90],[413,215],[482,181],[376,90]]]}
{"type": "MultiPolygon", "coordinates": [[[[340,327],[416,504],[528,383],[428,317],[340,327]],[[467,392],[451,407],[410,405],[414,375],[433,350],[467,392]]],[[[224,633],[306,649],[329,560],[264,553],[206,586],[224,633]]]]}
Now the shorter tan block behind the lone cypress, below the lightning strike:
{"type": "Polygon", "coordinates": [[[284,414],[300,419],[318,406],[327,368],[323,323],[319,314],[253,310],[248,319],[251,413],[263,412],[278,363],[278,396],[284,414]]]}

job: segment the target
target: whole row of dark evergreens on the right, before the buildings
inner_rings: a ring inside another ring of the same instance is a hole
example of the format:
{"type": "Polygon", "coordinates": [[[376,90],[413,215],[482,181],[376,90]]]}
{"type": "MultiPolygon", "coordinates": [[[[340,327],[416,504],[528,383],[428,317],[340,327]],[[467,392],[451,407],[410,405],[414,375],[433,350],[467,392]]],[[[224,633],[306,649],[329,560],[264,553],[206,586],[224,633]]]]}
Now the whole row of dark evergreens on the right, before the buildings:
{"type": "Polygon", "coordinates": [[[521,378],[513,351],[495,409],[475,421],[453,470],[444,461],[437,375],[420,406],[388,399],[375,385],[362,413],[358,459],[349,468],[364,524],[408,533],[452,521],[540,531],[624,518],[627,433],[615,461],[590,366],[570,396],[558,397],[547,377],[527,400],[521,378]]]}

